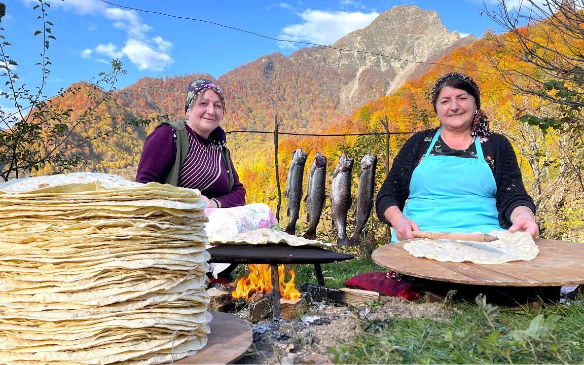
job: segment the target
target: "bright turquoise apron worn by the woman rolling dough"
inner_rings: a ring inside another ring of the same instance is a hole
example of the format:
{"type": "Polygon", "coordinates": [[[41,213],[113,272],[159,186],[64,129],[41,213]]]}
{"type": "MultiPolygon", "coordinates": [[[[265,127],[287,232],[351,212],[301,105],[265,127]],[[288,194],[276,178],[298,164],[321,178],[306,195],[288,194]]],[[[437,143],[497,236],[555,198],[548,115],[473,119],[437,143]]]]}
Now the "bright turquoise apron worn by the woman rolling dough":
{"type": "MultiPolygon", "coordinates": [[[[442,128],[413,170],[404,215],[422,231],[483,232],[503,230],[499,225],[493,172],[475,138],[478,158],[431,156],[442,128]]],[[[393,242],[398,239],[392,237],[393,242]]]]}

